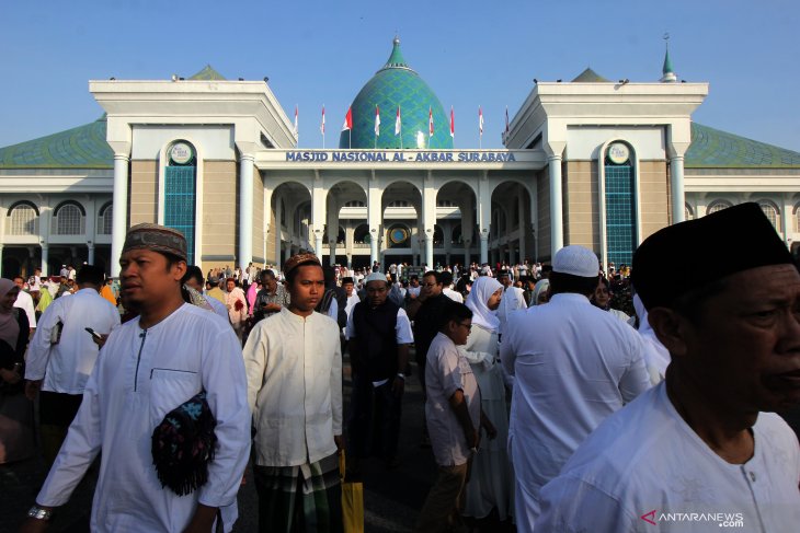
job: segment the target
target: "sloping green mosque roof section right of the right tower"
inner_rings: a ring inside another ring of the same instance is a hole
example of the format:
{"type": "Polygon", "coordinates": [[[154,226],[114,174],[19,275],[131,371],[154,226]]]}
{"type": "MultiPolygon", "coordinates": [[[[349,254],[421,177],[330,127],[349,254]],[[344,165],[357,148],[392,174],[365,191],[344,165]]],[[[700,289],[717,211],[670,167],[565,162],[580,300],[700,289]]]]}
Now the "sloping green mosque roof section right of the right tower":
{"type": "Polygon", "coordinates": [[[800,166],[800,153],[692,123],[687,169],[789,169],[800,166]]]}

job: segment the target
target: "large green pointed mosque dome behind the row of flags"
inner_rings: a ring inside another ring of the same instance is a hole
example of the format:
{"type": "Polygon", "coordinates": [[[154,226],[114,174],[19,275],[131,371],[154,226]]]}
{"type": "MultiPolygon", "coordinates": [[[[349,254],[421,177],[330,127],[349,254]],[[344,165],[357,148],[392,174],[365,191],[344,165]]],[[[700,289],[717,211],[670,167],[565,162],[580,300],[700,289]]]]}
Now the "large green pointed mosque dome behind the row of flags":
{"type": "Polygon", "coordinates": [[[351,106],[353,129],[344,130],[339,148],[362,149],[450,149],[450,116],[442,107],[436,94],[420,74],[405,63],[400,51],[400,39],[384,68],[358,92],[351,106]],[[380,135],[375,136],[375,111],[380,111],[380,135]],[[402,144],[395,135],[397,109],[400,107],[402,144]],[[428,108],[433,112],[433,137],[428,137],[428,108]]]}

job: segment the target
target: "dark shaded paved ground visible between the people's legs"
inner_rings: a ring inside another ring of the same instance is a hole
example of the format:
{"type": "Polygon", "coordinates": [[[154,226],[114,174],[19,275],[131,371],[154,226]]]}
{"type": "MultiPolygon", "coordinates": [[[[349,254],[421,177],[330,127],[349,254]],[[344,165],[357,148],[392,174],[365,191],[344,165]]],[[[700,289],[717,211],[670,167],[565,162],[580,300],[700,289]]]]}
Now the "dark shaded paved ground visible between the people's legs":
{"type": "MultiPolygon", "coordinates": [[[[419,515],[435,475],[435,463],[430,449],[420,447],[423,425],[423,404],[420,383],[414,374],[407,381],[403,398],[402,430],[400,433],[400,466],[387,471],[380,461],[363,464],[365,531],[375,533],[410,532],[419,515]]],[[[350,372],[345,364],[345,401],[350,397],[350,372]]],[[[345,413],[346,413],[345,403],[345,413]]],[[[25,511],[33,503],[46,472],[38,460],[13,465],[0,465],[0,533],[13,532],[25,511]]],[[[84,483],[70,503],[59,511],[49,531],[83,533],[89,531],[85,517],[91,508],[93,484],[84,483]]],[[[239,514],[235,531],[256,531],[256,496],[252,475],[239,491],[239,514]]],[[[511,531],[507,524],[487,520],[478,531],[511,531]]]]}

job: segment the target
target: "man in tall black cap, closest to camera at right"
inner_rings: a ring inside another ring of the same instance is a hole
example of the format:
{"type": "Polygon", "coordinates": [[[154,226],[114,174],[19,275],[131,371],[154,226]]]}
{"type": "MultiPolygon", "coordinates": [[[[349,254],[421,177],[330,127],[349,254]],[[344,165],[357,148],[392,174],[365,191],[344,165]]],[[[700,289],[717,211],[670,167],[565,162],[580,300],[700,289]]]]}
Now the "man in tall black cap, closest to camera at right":
{"type": "Polygon", "coordinates": [[[632,276],[666,378],[542,489],[537,529],[798,531],[798,440],[765,413],[800,402],[800,275],[782,240],[743,204],[651,235],[632,276]],[[666,283],[676,257],[690,276],[666,283]]]}

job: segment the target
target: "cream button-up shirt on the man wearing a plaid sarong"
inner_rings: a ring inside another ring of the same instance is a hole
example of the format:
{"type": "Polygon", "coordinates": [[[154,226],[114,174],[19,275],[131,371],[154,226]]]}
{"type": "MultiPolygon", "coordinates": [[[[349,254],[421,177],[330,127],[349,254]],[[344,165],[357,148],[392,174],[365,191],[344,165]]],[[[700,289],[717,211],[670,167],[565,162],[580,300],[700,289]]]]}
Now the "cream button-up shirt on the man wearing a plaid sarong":
{"type": "Polygon", "coordinates": [[[320,313],[282,308],[259,322],[244,346],[255,463],[298,466],[336,451],[342,434],[339,325],[320,313]]]}

